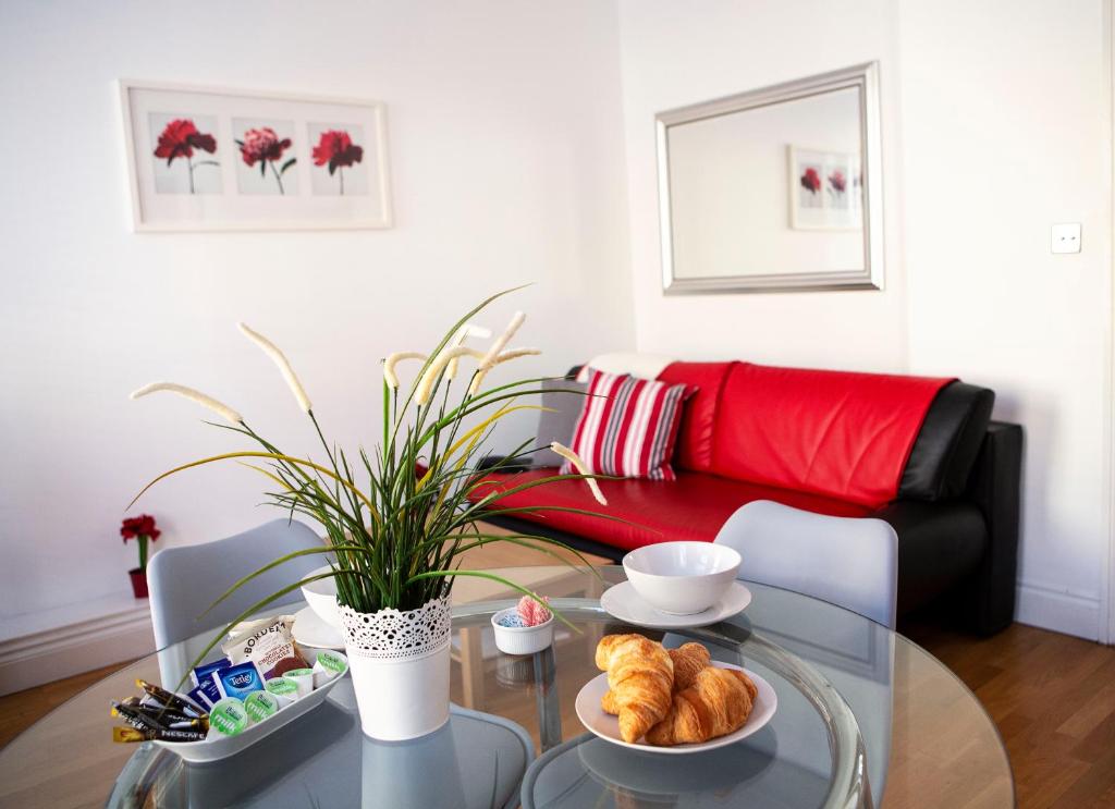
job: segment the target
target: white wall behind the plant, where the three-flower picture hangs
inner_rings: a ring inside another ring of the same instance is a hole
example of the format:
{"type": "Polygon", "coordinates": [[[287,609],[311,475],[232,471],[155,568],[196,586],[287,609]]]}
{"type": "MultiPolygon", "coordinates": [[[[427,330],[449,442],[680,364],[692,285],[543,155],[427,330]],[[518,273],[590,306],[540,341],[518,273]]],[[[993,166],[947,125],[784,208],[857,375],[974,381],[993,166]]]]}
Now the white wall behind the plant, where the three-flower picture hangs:
{"type": "MultiPolygon", "coordinates": [[[[594,0],[0,3],[0,616],[127,589],[130,497],[237,446],[187,402],[128,401],[139,384],[196,386],[314,451],[237,320],[348,446],[375,441],[379,358],[492,291],[535,282],[481,319],[530,313],[517,342],[546,355],[517,371],[629,345],[617,25],[594,0]],[[396,227],[132,234],[120,77],[386,101],[396,227]]],[[[132,511],[158,517],[158,546],[212,539],[273,516],[253,477],[198,470],[132,511]]]]}

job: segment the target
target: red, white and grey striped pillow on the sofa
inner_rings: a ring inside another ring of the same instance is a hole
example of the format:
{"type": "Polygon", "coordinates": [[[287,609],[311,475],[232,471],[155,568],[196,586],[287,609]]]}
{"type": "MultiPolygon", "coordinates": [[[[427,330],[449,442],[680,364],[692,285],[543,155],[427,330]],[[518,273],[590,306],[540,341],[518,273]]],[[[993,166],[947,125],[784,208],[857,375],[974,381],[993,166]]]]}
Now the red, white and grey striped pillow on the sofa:
{"type": "MultiPolygon", "coordinates": [[[[598,475],[673,480],[670,458],[689,392],[685,384],[590,370],[572,449],[598,475]]],[[[572,464],[561,471],[574,471],[572,464]]]]}

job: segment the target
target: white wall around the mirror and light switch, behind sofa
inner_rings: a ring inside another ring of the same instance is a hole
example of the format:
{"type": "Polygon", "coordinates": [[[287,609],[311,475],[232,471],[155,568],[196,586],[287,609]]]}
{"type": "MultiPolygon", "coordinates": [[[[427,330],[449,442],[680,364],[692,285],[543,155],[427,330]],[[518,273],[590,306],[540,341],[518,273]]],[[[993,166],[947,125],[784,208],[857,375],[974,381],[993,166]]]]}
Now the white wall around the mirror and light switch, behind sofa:
{"type": "Polygon", "coordinates": [[[1106,4],[701,10],[620,0],[638,347],[958,374],[993,388],[996,417],[1026,428],[1019,618],[1101,636],[1111,488],[1106,4]],[[873,59],[885,291],[663,296],[653,115],[873,59]],[[1054,222],[1083,223],[1082,254],[1050,255],[1054,222]]]}

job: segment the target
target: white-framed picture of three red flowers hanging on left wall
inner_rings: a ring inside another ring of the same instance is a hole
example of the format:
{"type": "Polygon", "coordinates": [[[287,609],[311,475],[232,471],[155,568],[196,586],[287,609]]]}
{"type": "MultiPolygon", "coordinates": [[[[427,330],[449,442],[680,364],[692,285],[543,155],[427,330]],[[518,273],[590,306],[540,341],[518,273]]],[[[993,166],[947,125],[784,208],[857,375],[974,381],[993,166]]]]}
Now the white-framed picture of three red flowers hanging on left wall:
{"type": "Polygon", "coordinates": [[[379,101],[120,81],[136,231],[391,226],[379,101]]]}

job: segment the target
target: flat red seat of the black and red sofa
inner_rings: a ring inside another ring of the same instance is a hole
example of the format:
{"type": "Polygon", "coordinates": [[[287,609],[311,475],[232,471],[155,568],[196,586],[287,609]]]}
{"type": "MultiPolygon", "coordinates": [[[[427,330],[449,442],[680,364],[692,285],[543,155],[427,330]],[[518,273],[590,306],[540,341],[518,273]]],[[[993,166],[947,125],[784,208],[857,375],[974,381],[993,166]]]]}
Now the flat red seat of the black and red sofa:
{"type": "MultiPolygon", "coordinates": [[[[486,480],[492,486],[510,488],[556,472],[553,468],[532,469],[511,475],[491,475],[486,480]]],[[[676,539],[711,542],[728,517],[752,500],[775,500],[836,517],[863,517],[871,513],[870,508],[853,503],[841,503],[799,491],[756,486],[702,472],[679,470],[677,475],[677,479],[668,484],[642,479],[601,480],[600,488],[608,498],[608,506],[597,503],[583,481],[560,480],[510,495],[495,504],[493,509],[561,506],[619,517],[629,522],[619,523],[568,511],[507,515],[628,550],[676,539]]],[[[486,485],[482,485],[474,493],[474,499],[479,499],[489,491],[486,485]]]]}

